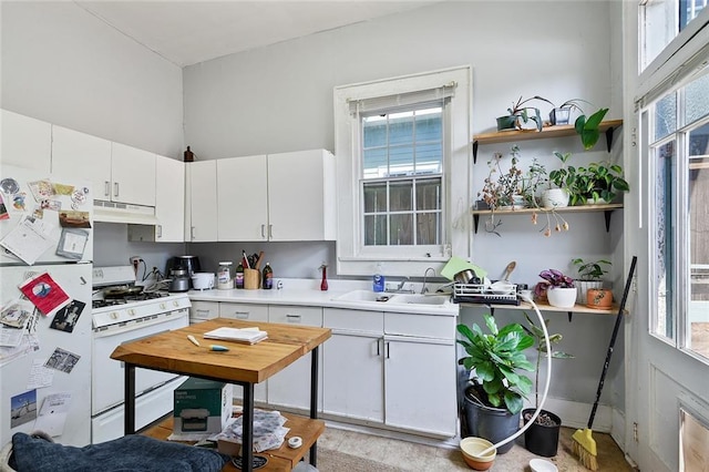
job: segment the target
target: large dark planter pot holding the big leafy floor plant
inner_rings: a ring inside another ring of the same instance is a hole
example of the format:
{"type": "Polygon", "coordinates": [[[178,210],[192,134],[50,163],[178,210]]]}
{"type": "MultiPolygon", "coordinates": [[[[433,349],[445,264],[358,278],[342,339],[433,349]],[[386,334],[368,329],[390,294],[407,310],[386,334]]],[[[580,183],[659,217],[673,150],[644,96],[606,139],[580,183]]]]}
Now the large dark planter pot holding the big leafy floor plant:
{"type": "MultiPolygon", "coordinates": [[[[465,389],[464,399],[467,435],[483,438],[495,444],[520,430],[520,413],[512,414],[506,409],[482,404],[475,394],[475,387],[465,389]]],[[[497,454],[504,454],[513,445],[514,441],[501,445],[497,454]]]]}

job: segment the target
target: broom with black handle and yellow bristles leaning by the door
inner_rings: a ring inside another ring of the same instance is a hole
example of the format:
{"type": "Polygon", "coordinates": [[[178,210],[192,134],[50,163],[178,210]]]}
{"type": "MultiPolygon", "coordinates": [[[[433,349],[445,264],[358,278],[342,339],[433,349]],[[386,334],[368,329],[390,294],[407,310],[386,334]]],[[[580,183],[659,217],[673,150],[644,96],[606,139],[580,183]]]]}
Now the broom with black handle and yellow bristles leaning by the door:
{"type": "Polygon", "coordinates": [[[616,325],[613,329],[613,336],[610,336],[610,343],[608,345],[608,352],[606,353],[606,361],[603,365],[603,371],[600,372],[600,380],[598,381],[598,390],[596,390],[596,401],[590,409],[590,417],[588,418],[588,427],[583,430],[576,430],[572,435],[572,450],[584,466],[592,471],[598,470],[598,461],[596,460],[596,441],[592,437],[592,427],[594,424],[594,418],[596,417],[596,410],[598,409],[598,400],[600,399],[600,392],[603,390],[603,383],[606,379],[606,372],[608,372],[608,365],[610,363],[610,355],[613,355],[613,348],[616,343],[616,337],[618,336],[618,328],[620,328],[620,320],[623,319],[623,311],[625,310],[625,302],[628,299],[628,293],[630,291],[630,283],[633,281],[633,274],[635,273],[635,265],[637,263],[637,256],[633,256],[630,263],[630,273],[628,279],[625,283],[625,290],[623,290],[623,300],[618,307],[618,315],[616,316],[616,325]]]}

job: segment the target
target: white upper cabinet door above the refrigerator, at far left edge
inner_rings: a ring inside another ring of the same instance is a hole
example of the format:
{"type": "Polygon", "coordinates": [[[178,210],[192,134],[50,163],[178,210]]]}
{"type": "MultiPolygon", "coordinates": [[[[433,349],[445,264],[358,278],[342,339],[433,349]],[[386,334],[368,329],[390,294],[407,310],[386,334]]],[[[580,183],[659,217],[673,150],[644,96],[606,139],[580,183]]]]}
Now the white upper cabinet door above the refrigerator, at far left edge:
{"type": "Polygon", "coordinates": [[[7,110],[1,112],[0,162],[49,174],[52,163],[52,125],[7,110]]]}

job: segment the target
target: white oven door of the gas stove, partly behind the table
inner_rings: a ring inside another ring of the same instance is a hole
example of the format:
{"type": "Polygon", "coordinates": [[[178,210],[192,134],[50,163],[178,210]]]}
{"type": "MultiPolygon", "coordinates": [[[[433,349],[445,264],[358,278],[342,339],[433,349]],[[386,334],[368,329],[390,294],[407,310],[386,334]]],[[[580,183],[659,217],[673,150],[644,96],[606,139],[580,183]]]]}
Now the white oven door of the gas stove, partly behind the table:
{"type": "MultiPolygon", "coordinates": [[[[184,328],[189,325],[187,309],[172,311],[168,317],[141,324],[107,329],[93,334],[93,366],[91,382],[91,415],[123,403],[124,370],[123,362],[111,359],[111,353],[122,343],[135,341],[158,332],[184,328]]],[[[135,369],[135,397],[152,390],[168,380],[178,377],[175,373],[158,372],[148,369],[135,369]]],[[[172,404],[172,403],[171,403],[172,404]]]]}

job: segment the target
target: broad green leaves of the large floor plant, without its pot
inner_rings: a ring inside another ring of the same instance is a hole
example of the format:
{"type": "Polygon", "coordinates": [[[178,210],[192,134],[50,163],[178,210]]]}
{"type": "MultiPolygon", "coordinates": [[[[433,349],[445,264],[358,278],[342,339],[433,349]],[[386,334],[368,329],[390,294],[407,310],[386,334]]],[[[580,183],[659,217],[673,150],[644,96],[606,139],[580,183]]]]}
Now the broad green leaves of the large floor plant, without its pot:
{"type": "Polygon", "coordinates": [[[532,391],[532,381],[518,371],[534,371],[534,366],[524,353],[534,345],[534,338],[520,324],[497,329],[491,315],[485,314],[484,317],[490,335],[485,335],[476,324],[472,329],[466,325],[458,325],[458,332],[463,336],[458,342],[467,353],[458,363],[475,370],[474,381],[480,382],[485,393],[481,401],[516,414],[522,410],[522,399],[532,391]]]}

